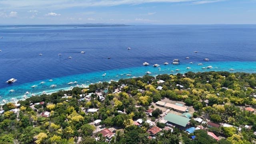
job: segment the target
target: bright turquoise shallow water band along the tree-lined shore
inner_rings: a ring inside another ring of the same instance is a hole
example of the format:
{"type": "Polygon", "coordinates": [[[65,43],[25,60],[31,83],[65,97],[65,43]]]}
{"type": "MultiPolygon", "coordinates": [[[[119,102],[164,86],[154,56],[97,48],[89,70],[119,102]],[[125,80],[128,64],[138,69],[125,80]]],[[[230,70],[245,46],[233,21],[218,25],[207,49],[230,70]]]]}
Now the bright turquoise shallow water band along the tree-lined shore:
{"type": "MultiPolygon", "coordinates": [[[[206,72],[206,71],[228,71],[228,72],[248,72],[254,73],[256,72],[256,62],[203,62],[202,66],[198,66],[197,64],[200,62],[193,62],[193,64],[189,63],[189,60],[183,60],[187,62],[182,62],[180,65],[164,65],[160,64],[159,67],[153,67],[153,64],[150,66],[139,66],[132,68],[122,68],[115,70],[106,70],[106,71],[98,71],[84,74],[76,74],[72,76],[65,76],[59,78],[52,78],[52,82],[49,82],[49,79],[40,80],[35,82],[24,83],[18,86],[8,86],[6,88],[0,89],[0,96],[2,96],[2,100],[10,101],[11,98],[21,99],[28,91],[28,97],[31,94],[42,94],[43,91],[46,93],[54,92],[56,90],[62,90],[66,88],[70,88],[70,86],[76,86],[76,84],[81,85],[84,84],[88,86],[91,83],[96,82],[110,82],[110,80],[119,80],[121,78],[132,78],[139,77],[145,75],[145,72],[152,72],[152,76],[156,76],[158,74],[176,74],[176,73],[185,73],[188,71],[192,72],[206,72]],[[202,67],[212,66],[212,69],[202,69],[202,67]],[[190,67],[190,69],[186,69],[190,67]],[[161,69],[158,69],[161,68],[161,69]],[[230,71],[232,68],[234,71],[230,71]],[[175,71],[179,69],[179,71],[175,71]],[[173,72],[171,72],[173,70],[173,72]],[[102,76],[102,74],[106,73],[106,76],[102,76]],[[131,76],[126,76],[126,74],[131,74],[131,76]],[[46,82],[45,84],[40,84],[40,82],[46,82]],[[68,85],[68,82],[77,81],[76,84],[68,85]],[[52,84],[56,84],[55,88],[50,88],[52,84]],[[38,85],[36,88],[32,88],[31,86],[38,85]],[[15,90],[15,92],[9,92],[9,90],[15,90]]],[[[163,62],[164,63],[164,62],[163,62]]],[[[171,63],[171,62],[170,62],[171,63]]],[[[1,103],[2,103],[1,100],[1,103]]]]}

